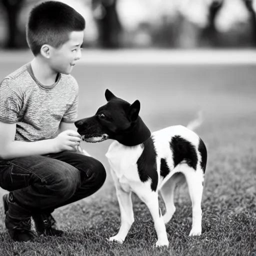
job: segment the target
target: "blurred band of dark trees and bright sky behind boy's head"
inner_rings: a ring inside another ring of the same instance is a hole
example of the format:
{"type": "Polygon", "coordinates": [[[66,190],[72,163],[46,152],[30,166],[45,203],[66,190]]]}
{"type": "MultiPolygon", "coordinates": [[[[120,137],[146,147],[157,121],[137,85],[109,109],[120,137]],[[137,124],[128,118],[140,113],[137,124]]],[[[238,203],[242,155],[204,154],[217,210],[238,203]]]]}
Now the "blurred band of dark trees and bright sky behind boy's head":
{"type": "MultiPolygon", "coordinates": [[[[256,45],[254,0],[61,0],[86,19],[92,48],[256,45]]],[[[42,0],[0,0],[0,47],[26,48],[25,23],[42,0]]]]}

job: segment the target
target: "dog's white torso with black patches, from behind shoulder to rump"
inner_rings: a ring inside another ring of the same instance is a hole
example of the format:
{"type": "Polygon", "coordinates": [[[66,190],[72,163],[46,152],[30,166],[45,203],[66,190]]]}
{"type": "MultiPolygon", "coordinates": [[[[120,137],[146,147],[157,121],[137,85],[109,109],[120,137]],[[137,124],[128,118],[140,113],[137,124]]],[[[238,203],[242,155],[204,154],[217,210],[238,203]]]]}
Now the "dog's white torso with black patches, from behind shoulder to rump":
{"type": "Polygon", "coordinates": [[[194,171],[205,171],[206,148],[192,130],[182,125],[174,125],[153,132],[151,138],[154,141],[157,172],[160,177],[158,188],[162,186],[165,178],[180,172],[175,167],[182,163],[192,167],[194,171]]]}

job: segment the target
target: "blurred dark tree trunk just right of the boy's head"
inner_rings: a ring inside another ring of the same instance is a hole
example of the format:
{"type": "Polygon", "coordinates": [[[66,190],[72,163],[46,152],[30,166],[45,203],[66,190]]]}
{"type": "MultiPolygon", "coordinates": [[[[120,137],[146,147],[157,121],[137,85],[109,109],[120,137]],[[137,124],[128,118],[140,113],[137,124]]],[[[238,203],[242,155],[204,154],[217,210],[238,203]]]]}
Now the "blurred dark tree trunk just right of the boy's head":
{"type": "Polygon", "coordinates": [[[119,47],[122,27],[116,11],[116,0],[92,0],[92,9],[97,21],[100,46],[119,47]]]}

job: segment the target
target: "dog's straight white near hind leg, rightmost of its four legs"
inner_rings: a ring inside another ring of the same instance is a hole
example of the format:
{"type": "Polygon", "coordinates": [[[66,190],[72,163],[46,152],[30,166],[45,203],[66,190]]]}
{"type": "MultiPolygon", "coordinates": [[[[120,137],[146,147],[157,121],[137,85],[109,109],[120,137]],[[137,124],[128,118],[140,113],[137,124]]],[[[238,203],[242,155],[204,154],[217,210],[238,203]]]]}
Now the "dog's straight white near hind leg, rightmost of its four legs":
{"type": "Polygon", "coordinates": [[[202,170],[197,168],[194,170],[187,165],[182,166],[182,172],[185,175],[189,195],[192,201],[192,228],[189,236],[201,234],[201,199],[203,190],[203,174],[202,170]]]}

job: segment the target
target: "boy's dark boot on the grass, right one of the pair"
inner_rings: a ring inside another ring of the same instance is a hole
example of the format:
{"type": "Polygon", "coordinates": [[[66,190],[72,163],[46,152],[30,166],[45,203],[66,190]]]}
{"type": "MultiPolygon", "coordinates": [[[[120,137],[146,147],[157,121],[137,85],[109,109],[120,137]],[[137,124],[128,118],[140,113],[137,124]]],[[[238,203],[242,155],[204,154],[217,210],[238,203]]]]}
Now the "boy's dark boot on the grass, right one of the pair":
{"type": "Polygon", "coordinates": [[[61,236],[62,230],[56,229],[56,220],[50,213],[32,214],[35,230],[38,235],[61,236]]]}

